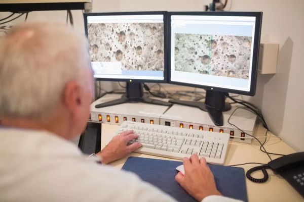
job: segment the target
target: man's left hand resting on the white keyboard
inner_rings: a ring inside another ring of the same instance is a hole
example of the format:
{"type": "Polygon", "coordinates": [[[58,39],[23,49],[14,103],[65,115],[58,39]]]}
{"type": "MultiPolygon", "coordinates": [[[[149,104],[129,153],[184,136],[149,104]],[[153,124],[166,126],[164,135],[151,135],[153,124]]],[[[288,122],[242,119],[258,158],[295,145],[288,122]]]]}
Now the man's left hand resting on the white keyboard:
{"type": "Polygon", "coordinates": [[[103,164],[108,164],[112,161],[124,158],[132,151],[142,146],[139,142],[135,142],[127,146],[127,143],[135,138],[138,138],[138,135],[133,134],[133,130],[122,132],[113,137],[113,139],[98,154],[96,154],[96,156],[102,159],[103,164]]]}

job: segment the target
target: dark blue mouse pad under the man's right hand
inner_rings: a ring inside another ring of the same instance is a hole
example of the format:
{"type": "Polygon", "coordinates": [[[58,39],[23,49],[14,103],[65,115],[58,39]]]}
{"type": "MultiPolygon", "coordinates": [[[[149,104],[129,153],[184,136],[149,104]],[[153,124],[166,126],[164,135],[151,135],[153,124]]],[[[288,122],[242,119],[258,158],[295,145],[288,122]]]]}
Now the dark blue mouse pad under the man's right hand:
{"type": "MultiPolygon", "coordinates": [[[[129,157],[122,169],[136,173],[143,181],[159,187],[177,201],[196,201],[176,181],[176,167],[182,162],[129,157]]],[[[248,201],[243,168],[209,165],[217,189],[223,196],[248,201]]]]}

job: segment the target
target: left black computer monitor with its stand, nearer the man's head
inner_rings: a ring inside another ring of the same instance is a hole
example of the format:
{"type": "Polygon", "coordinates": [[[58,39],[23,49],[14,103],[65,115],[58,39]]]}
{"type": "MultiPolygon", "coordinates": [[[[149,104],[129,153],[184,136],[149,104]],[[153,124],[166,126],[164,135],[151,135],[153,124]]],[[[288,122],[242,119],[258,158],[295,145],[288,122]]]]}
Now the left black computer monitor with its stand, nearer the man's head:
{"type": "Polygon", "coordinates": [[[97,108],[127,102],[171,106],[148,98],[142,82],[167,82],[167,12],[84,14],[94,77],[125,81],[122,98],[97,108]]]}

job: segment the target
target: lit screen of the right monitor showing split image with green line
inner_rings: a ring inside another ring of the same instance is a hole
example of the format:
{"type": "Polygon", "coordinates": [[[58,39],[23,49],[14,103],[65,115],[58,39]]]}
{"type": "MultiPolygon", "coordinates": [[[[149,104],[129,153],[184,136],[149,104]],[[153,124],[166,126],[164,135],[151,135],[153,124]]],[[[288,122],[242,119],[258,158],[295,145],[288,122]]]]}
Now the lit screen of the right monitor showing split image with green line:
{"type": "Polygon", "coordinates": [[[172,15],[170,80],[249,92],[255,24],[252,16],[172,15]]]}

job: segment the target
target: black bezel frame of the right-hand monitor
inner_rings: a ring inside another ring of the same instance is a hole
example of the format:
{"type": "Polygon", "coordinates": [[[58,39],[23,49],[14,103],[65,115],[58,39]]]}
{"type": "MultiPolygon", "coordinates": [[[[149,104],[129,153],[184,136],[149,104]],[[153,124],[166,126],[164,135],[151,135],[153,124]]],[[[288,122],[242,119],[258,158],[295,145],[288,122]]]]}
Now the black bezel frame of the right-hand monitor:
{"type": "Polygon", "coordinates": [[[257,81],[257,65],[258,65],[258,54],[259,54],[259,44],[260,44],[260,34],[261,34],[261,23],[262,23],[262,12],[169,12],[168,13],[168,83],[175,85],[184,85],[189,87],[203,88],[205,90],[215,90],[220,92],[230,92],[243,95],[253,96],[256,91],[256,81],[257,81]],[[171,16],[175,15],[198,15],[198,16],[245,16],[245,17],[256,17],[255,22],[255,33],[254,33],[254,43],[253,43],[253,58],[257,60],[252,60],[252,75],[250,82],[250,90],[236,90],[230,88],[219,88],[214,86],[206,86],[199,84],[183,83],[171,80],[171,16]]]}

